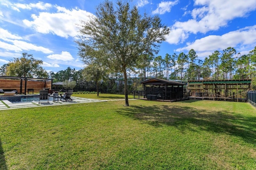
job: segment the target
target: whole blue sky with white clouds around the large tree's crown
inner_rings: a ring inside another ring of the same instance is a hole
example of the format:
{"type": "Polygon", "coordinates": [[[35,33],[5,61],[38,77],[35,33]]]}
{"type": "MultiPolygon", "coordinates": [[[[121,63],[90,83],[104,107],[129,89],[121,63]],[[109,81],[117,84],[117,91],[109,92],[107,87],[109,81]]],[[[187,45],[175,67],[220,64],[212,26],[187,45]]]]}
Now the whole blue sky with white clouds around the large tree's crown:
{"type": "MultiPolygon", "coordinates": [[[[112,0],[116,2],[115,0],[112,0]]],[[[0,66],[22,53],[44,62],[47,71],[84,68],[74,39],[103,0],[1,0],[0,66]]],[[[256,0],[133,0],[141,13],[158,15],[171,28],[158,55],[194,49],[199,59],[234,47],[256,46],[256,0]]],[[[158,56],[157,55],[157,56],[158,56]]]]}

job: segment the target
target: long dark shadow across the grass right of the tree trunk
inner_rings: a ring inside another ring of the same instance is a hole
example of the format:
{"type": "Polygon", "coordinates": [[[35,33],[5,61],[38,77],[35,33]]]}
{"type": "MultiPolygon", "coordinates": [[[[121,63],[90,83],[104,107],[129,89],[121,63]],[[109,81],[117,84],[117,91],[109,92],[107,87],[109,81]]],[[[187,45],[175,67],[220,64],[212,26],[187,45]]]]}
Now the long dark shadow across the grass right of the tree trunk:
{"type": "Polygon", "coordinates": [[[226,133],[256,145],[256,116],[167,105],[130,106],[120,110],[120,114],[155,127],[169,125],[180,131],[226,133]]]}

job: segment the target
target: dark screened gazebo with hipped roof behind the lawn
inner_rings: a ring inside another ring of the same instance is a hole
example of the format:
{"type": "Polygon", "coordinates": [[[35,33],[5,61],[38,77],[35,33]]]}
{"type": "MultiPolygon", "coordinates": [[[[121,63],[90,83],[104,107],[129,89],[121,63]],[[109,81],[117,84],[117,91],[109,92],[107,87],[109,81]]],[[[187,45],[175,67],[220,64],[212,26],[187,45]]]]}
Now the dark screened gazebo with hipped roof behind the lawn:
{"type": "Polygon", "coordinates": [[[185,86],[182,82],[150,78],[141,82],[144,86],[143,98],[147,100],[177,101],[185,99],[185,86]]]}

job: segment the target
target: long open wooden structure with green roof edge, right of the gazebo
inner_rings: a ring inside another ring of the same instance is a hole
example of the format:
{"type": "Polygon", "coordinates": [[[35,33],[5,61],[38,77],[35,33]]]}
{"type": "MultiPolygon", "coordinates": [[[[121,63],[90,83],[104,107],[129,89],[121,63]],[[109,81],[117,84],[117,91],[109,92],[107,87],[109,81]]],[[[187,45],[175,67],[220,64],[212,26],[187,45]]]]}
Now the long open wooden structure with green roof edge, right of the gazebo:
{"type": "Polygon", "coordinates": [[[246,102],[252,84],[245,80],[195,80],[188,81],[190,99],[246,102]]]}

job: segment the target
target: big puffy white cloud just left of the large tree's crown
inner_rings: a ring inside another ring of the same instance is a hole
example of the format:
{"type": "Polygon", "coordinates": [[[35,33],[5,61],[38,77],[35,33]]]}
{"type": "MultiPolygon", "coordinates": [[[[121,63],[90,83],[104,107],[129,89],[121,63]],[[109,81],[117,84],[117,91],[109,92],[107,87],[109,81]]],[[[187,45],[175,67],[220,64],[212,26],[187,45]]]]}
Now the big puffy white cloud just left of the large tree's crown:
{"type": "Polygon", "coordinates": [[[60,37],[68,38],[78,35],[78,26],[80,20],[88,20],[92,14],[80,9],[67,10],[66,8],[56,6],[58,12],[41,12],[38,16],[32,14],[33,21],[23,20],[23,23],[34,28],[39,33],[52,33],[60,37]]]}

